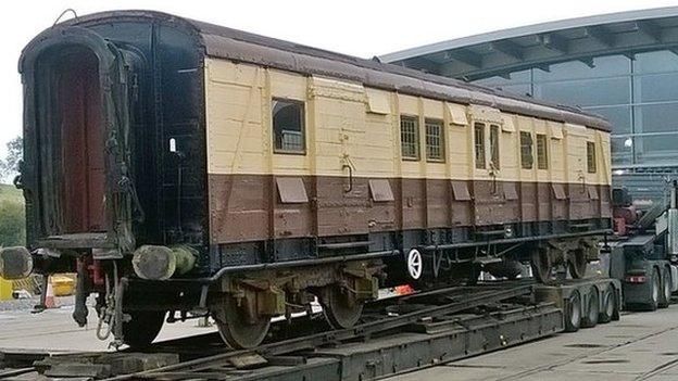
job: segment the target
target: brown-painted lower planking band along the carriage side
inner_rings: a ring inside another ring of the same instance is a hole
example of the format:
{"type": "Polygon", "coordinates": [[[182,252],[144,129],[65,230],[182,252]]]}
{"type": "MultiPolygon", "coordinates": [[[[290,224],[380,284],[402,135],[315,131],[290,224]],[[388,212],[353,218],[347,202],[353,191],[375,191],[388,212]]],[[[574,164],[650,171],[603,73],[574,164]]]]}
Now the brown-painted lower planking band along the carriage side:
{"type": "Polygon", "coordinates": [[[272,175],[208,181],[212,244],[612,215],[610,186],[272,175]]]}

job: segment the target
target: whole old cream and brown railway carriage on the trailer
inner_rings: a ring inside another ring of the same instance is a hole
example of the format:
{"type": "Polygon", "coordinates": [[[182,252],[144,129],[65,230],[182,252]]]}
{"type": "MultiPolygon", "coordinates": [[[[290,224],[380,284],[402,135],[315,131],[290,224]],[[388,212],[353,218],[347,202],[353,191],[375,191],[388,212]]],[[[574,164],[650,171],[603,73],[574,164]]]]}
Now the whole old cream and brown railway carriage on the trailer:
{"type": "MultiPolygon", "coordinates": [[[[117,343],[212,315],[255,346],[318,297],[582,277],[610,229],[610,125],[579,110],[167,14],[58,24],[24,50],[27,247],[78,271],[117,343]],[[170,314],[168,314],[170,313],[170,314]]],[[[106,332],[100,332],[106,336],[106,332]]]]}

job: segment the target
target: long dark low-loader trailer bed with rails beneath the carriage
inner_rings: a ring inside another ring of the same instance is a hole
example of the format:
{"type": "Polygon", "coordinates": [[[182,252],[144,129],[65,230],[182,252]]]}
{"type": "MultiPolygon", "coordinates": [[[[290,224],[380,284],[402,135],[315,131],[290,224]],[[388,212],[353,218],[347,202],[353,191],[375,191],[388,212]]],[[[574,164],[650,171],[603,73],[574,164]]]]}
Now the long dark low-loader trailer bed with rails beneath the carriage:
{"type": "Polygon", "coordinates": [[[277,340],[253,351],[229,351],[208,334],[156,343],[143,355],[48,354],[35,361],[24,354],[22,364],[16,360],[22,356],[10,354],[5,363],[14,361],[3,371],[8,379],[39,372],[54,379],[374,380],[563,332],[574,294],[580,296],[582,317],[589,314],[592,291],[598,290],[600,304],[610,287],[617,290],[618,316],[615,280],[572,280],[557,287],[529,280],[485,282],[377,301],[353,329],[313,331],[318,326],[313,317],[300,319],[293,329],[282,322],[275,330],[277,340]]]}

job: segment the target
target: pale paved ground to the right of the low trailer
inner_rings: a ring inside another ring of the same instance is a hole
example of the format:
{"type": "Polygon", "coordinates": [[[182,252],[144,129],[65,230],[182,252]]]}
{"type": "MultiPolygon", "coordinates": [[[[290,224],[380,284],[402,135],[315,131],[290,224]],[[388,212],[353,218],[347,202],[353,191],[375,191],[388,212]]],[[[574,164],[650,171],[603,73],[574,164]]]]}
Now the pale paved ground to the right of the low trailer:
{"type": "Polygon", "coordinates": [[[678,305],[388,380],[678,380],[678,305]]]}

